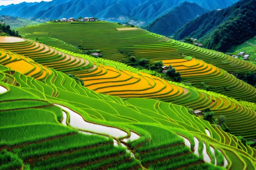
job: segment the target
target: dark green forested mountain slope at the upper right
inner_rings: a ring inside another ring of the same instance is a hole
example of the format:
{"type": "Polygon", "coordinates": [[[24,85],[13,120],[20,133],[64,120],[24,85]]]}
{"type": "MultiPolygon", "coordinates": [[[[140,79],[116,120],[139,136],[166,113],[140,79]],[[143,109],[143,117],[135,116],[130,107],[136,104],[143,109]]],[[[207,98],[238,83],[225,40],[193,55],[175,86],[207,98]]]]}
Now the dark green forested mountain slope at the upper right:
{"type": "Polygon", "coordinates": [[[223,10],[200,15],[174,33],[176,40],[199,39],[205,48],[227,51],[256,35],[256,1],[240,0],[223,10]]]}

